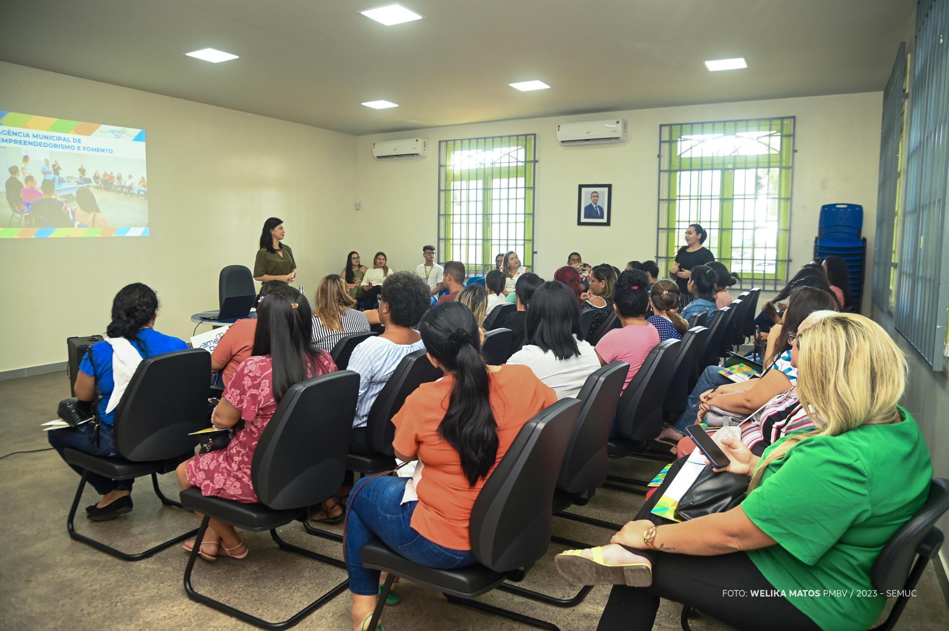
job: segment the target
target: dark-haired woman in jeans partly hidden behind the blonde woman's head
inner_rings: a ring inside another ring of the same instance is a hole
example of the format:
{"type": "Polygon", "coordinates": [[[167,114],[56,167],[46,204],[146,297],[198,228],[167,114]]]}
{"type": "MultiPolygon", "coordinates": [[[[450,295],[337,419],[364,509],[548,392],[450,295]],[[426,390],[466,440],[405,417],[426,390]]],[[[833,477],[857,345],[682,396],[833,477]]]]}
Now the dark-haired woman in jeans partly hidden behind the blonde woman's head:
{"type": "Polygon", "coordinates": [[[774,351],[766,357],[768,370],[761,379],[729,380],[720,374],[719,366],[708,366],[698,378],[696,387],[689,394],[685,411],[676,422],[665,427],[661,440],[679,442],[685,436],[685,428],[705,416],[711,406],[735,415],[747,416],[768,402],[778,393],[785,392],[797,379],[797,369],[791,365],[789,335],[814,311],[837,310],[837,301],[827,291],[814,288],[797,288],[788,299],[788,310],[784,314],[785,324],[779,337],[774,339],[774,351]]]}

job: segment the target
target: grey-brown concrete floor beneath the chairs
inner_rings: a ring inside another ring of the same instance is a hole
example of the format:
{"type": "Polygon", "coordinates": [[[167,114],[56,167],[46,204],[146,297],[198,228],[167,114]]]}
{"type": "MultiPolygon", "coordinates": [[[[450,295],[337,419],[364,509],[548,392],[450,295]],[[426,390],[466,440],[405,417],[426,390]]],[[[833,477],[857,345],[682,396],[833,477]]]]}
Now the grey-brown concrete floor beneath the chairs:
{"type": "MultiPolygon", "coordinates": [[[[56,403],[68,396],[64,373],[0,381],[5,405],[3,454],[47,446],[42,422],[55,417],[56,403]]],[[[615,473],[651,476],[652,463],[612,462],[615,473]]],[[[173,547],[136,563],[126,563],[69,539],[65,517],[78,477],[55,452],[17,454],[0,460],[0,506],[6,536],[0,541],[0,628],[2,629],[217,629],[253,628],[188,600],[181,584],[186,553],[173,547]]],[[[161,478],[165,494],[177,497],[173,475],[161,478]]],[[[182,510],[161,507],[147,479],[136,484],[135,510],[112,522],[93,523],[77,516],[77,529],[114,547],[138,551],[197,526],[182,510]]],[[[98,498],[87,487],[81,506],[98,498]]],[[[577,512],[622,522],[642,504],[642,497],[601,490],[577,512]]],[[[82,509],[80,509],[82,510],[82,509]]],[[[330,527],[330,528],[339,528],[330,527]]],[[[299,524],[280,530],[290,542],[342,558],[340,545],[307,535],[299,524]]],[[[609,531],[554,519],[561,536],[605,543],[609,531]]],[[[251,555],[244,561],[198,560],[195,588],[233,603],[267,620],[283,620],[345,578],[342,569],[325,566],[295,554],[281,552],[268,533],[245,533],[251,555]]],[[[548,555],[530,569],[521,584],[557,596],[578,589],[553,568],[553,555],[563,546],[552,545],[548,555]]],[[[449,604],[431,590],[403,582],[402,603],[387,607],[383,623],[388,631],[421,629],[528,629],[506,619],[449,604]]],[[[564,631],[596,628],[608,596],[608,587],[594,588],[579,606],[561,609],[493,591],[481,597],[487,603],[553,622],[564,631]]],[[[298,628],[347,629],[349,599],[345,594],[327,603],[298,628]]],[[[655,629],[679,629],[680,606],[663,601],[655,629]]],[[[699,618],[698,630],[717,627],[699,618]]],[[[918,596],[910,600],[896,627],[901,631],[949,628],[949,611],[942,600],[933,568],[926,569],[918,596]]]]}

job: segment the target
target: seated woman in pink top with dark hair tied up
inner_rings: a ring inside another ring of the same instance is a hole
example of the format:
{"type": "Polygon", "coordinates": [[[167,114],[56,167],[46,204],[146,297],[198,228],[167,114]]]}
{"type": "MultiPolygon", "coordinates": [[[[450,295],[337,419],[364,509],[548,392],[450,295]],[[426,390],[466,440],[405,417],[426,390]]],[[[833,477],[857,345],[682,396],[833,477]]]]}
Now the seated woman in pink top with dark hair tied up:
{"type": "Polygon", "coordinates": [[[616,282],[616,302],[613,308],[620,316],[623,328],[607,331],[596,345],[596,354],[600,364],[626,362],[629,370],[623,383],[623,391],[640,371],[649,351],[659,343],[659,331],[646,322],[646,310],[649,308],[649,282],[645,272],[640,269],[626,269],[616,282]]]}

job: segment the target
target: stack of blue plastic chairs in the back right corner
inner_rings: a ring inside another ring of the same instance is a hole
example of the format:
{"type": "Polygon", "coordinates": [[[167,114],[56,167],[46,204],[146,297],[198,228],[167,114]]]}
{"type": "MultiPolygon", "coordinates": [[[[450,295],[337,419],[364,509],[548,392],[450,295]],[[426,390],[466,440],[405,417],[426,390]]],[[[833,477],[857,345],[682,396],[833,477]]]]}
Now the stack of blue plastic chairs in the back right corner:
{"type": "Polygon", "coordinates": [[[861,237],[864,227],[864,207],[860,204],[825,204],[817,224],[814,256],[825,258],[834,254],[847,262],[850,271],[850,291],[854,310],[860,311],[866,267],[866,239],[861,237]]]}

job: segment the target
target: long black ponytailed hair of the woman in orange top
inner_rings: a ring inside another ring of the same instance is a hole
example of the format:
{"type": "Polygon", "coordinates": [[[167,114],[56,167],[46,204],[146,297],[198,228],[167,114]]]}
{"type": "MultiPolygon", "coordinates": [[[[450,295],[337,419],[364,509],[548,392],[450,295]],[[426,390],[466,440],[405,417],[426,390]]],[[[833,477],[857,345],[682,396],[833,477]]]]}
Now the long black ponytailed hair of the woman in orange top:
{"type": "Polygon", "coordinates": [[[434,306],[419,324],[425,349],[455,372],[448,411],[438,424],[458,453],[461,470],[474,486],[487,477],[497,457],[497,421],[491,409],[491,380],[481,357],[481,337],[471,309],[457,303],[434,306]]]}

